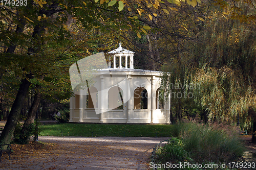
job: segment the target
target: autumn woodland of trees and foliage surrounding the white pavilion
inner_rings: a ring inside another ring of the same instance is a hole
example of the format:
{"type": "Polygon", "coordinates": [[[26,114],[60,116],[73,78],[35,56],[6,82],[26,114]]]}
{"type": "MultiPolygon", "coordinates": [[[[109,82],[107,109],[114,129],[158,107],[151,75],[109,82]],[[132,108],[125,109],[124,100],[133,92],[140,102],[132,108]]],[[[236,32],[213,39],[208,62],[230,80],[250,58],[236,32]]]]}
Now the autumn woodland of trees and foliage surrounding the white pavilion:
{"type": "Polygon", "coordinates": [[[15,3],[0,6],[1,143],[18,120],[26,119],[26,137],[36,112],[44,119],[68,112],[69,67],[119,42],[135,52],[135,68],[164,71],[162,94],[193,93],[172,96],[173,123],[239,122],[256,142],[255,1],[15,3]]]}

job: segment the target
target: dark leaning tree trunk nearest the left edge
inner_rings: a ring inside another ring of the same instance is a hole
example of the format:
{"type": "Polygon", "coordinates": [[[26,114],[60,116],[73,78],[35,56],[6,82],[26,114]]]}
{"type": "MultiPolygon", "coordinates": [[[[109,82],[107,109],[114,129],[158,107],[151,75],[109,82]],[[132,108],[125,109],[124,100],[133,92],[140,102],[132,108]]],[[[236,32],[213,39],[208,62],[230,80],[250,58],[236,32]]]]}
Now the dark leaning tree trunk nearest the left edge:
{"type": "Polygon", "coordinates": [[[15,101],[12,105],[12,109],[8,116],[5,128],[0,136],[0,143],[10,143],[15,126],[18,122],[18,115],[24,105],[29,86],[30,82],[27,79],[23,79],[19,86],[15,101]]]}

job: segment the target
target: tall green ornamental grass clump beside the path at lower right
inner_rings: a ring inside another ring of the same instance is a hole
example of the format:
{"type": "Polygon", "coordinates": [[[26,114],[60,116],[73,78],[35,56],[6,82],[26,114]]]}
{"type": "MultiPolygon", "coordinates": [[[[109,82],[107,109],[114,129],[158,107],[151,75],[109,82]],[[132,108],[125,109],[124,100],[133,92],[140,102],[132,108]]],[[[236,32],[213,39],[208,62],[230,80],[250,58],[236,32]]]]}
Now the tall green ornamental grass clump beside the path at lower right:
{"type": "Polygon", "coordinates": [[[181,139],[184,150],[200,162],[234,161],[245,151],[238,130],[231,125],[179,123],[172,135],[181,139]]]}

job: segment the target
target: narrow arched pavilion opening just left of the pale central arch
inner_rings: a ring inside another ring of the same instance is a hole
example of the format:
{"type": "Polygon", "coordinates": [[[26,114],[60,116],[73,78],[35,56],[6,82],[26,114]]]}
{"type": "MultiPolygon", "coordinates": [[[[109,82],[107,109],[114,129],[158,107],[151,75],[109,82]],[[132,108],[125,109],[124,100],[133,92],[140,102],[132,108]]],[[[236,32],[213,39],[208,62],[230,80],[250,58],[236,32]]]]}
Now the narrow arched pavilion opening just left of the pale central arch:
{"type": "Polygon", "coordinates": [[[96,87],[90,87],[87,90],[86,108],[87,109],[98,108],[98,90],[96,87]]]}

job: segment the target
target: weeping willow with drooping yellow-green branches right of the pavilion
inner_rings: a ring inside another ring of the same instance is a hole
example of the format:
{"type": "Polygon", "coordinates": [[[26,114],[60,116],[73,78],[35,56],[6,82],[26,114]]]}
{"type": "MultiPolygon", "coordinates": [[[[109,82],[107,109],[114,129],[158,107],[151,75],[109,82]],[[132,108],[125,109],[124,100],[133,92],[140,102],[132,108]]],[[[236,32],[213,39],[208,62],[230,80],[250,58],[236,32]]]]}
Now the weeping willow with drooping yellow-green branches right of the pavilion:
{"type": "MultiPolygon", "coordinates": [[[[250,12],[246,6],[241,9],[244,14],[250,12]]],[[[163,76],[162,87],[170,92],[170,84],[182,77],[186,92],[194,94],[191,107],[207,110],[211,121],[234,123],[240,116],[241,126],[251,127],[256,120],[256,28],[218,11],[206,18],[197,41],[184,43],[189,52],[181,52],[182,64],[170,63],[165,68],[169,72],[163,76]],[[174,70],[183,71],[177,76],[174,70]]]]}

